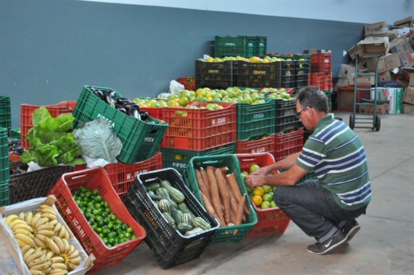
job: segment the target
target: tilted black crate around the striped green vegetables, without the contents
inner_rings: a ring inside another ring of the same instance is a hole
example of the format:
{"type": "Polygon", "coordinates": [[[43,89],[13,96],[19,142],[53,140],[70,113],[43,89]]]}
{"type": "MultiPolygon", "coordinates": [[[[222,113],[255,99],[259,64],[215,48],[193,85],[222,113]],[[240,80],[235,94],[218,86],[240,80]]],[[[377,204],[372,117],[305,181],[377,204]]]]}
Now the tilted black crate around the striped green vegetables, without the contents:
{"type": "Polygon", "coordinates": [[[144,227],[145,242],[152,251],[152,257],[164,269],[199,258],[219,228],[217,220],[207,213],[186,187],[177,170],[172,168],[140,173],[132,182],[123,202],[132,217],[144,227]],[[159,180],[168,180],[172,187],[184,193],[188,209],[208,222],[211,228],[187,237],[172,227],[155,207],[145,189],[147,185],[159,180]]]}

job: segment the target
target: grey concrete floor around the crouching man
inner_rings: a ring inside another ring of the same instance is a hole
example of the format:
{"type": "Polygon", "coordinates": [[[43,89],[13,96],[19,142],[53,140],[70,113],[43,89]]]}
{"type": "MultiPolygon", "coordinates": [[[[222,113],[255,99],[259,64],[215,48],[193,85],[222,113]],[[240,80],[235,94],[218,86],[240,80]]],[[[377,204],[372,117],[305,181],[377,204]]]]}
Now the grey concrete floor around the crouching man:
{"type": "MultiPolygon", "coordinates": [[[[348,123],[352,112],[334,113],[348,123]]],[[[379,132],[354,131],[366,149],[373,197],[350,243],[310,254],[306,247],[315,240],[290,222],[284,234],[207,247],[197,260],[170,269],[161,269],[142,243],[95,274],[414,274],[414,115],[382,115],[379,132]]]]}

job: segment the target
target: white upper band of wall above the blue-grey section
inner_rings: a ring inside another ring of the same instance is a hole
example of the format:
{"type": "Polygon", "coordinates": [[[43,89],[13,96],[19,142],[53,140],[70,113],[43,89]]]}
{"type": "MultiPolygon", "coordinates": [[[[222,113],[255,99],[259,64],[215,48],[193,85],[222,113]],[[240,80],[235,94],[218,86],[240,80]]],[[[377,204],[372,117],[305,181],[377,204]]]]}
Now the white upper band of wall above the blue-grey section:
{"type": "Polygon", "coordinates": [[[219,12],[239,12],[304,19],[322,19],[355,23],[395,21],[414,15],[414,0],[81,0],[163,6],[219,12]]]}

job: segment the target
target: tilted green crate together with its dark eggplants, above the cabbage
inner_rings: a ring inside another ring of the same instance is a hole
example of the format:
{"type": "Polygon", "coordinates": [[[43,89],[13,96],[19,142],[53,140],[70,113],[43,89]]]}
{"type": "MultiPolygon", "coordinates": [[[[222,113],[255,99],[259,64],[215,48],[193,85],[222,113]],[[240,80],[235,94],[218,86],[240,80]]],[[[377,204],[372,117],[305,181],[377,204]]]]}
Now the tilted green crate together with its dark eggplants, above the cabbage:
{"type": "Polygon", "coordinates": [[[83,86],[72,115],[73,129],[82,122],[107,120],[123,144],[117,159],[124,163],[151,158],[168,128],[164,121],[150,117],[111,88],[83,86]]]}

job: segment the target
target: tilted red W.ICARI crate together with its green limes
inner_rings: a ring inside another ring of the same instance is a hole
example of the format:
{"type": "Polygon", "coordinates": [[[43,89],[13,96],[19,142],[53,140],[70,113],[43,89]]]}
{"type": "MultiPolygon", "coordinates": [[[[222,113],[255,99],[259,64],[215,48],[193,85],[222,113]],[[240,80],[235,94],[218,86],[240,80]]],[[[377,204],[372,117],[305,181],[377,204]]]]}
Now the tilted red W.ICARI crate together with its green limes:
{"type": "Polygon", "coordinates": [[[146,236],[101,167],[63,174],[49,194],[83,249],[94,254],[91,273],[120,263],[146,236]]]}

